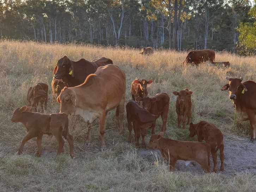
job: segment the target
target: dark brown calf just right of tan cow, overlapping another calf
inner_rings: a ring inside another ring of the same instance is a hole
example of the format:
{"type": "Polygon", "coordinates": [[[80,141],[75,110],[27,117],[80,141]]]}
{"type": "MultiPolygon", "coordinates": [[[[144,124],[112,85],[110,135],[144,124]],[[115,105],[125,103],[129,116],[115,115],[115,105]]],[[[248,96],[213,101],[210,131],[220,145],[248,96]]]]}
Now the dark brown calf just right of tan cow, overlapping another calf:
{"type": "MultiPolygon", "coordinates": [[[[128,122],[128,130],[129,130],[129,138],[128,142],[132,142],[132,123],[134,130],[134,137],[136,142],[136,147],[139,147],[139,138],[140,135],[142,137],[142,147],[145,148],[145,134],[147,132],[147,128],[152,128],[152,134],[155,133],[155,126],[157,116],[151,114],[147,110],[141,108],[136,101],[129,101],[126,105],[127,112],[127,122],[128,122]]],[[[159,115],[158,115],[159,116],[159,115]]]]}

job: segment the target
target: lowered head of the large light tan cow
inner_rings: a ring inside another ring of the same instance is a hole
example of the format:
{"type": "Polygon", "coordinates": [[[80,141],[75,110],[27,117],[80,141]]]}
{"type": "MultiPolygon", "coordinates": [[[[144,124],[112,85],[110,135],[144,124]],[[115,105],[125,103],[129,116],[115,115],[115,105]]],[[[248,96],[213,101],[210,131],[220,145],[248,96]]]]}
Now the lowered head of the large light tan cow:
{"type": "Polygon", "coordinates": [[[77,105],[75,98],[75,92],[70,88],[64,87],[57,97],[57,102],[60,103],[60,113],[71,114],[77,105]]]}

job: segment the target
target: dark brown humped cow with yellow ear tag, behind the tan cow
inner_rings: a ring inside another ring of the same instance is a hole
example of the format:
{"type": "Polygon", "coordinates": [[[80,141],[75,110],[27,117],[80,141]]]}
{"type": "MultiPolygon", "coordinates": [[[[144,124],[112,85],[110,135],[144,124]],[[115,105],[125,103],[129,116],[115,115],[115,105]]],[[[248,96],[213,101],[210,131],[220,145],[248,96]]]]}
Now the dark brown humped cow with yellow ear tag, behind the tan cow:
{"type": "Polygon", "coordinates": [[[67,56],[64,56],[57,61],[57,71],[54,78],[62,79],[69,87],[75,87],[81,85],[88,75],[95,73],[98,67],[112,63],[112,60],[105,57],[90,62],[84,58],[79,61],[71,61],[67,56]]]}

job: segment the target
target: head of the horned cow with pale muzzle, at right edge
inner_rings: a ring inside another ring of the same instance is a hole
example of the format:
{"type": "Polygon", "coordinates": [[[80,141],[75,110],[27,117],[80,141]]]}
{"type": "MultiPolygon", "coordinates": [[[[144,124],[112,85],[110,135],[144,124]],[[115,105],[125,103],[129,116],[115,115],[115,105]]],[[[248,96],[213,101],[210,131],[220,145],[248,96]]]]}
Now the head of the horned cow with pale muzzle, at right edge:
{"type": "Polygon", "coordinates": [[[221,88],[221,91],[229,90],[229,98],[232,99],[233,102],[235,103],[237,96],[244,94],[244,92],[248,90],[246,89],[245,85],[242,83],[243,81],[242,77],[240,77],[240,79],[226,77],[226,79],[229,81],[229,83],[224,85],[221,88]]]}

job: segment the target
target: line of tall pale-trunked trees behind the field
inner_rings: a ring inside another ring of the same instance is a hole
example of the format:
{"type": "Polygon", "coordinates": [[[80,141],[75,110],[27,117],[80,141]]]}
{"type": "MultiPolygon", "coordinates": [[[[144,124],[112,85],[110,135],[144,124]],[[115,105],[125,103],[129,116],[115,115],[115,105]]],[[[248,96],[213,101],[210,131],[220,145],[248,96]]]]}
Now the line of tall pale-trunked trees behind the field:
{"type": "Polygon", "coordinates": [[[0,0],[0,36],[236,52],[245,50],[239,34],[255,24],[253,9],[249,0],[0,0]]]}

